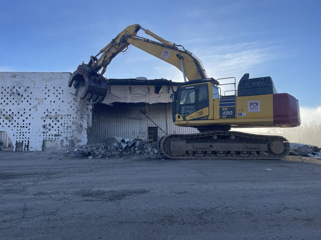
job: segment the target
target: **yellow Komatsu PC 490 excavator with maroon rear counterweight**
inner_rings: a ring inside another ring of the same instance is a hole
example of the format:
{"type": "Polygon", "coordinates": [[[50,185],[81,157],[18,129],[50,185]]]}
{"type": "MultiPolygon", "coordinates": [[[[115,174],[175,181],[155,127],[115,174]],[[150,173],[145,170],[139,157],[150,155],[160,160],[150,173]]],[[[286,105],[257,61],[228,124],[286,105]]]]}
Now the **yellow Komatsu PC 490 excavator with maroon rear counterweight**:
{"type": "Polygon", "coordinates": [[[281,159],[289,154],[290,144],[282,136],[231,131],[231,127],[299,126],[296,98],[288,93],[277,93],[270,76],[249,78],[248,73],[244,74],[237,88],[234,77],[209,78],[194,54],[139,24],[125,28],[91,56],[88,64],[79,65],[70,76],[68,86],[74,86],[80,99],[103,101],[108,91],[103,74],[111,60],[129,45],[172,64],[183,73],[184,82],[178,84],[175,91],[171,88],[173,122],[177,126],[197,128],[199,133],[163,136],[159,148],[165,156],[172,159],[281,159]],[[137,36],[139,30],[156,41],[137,36]],[[223,79],[231,79],[229,84],[234,85],[234,90],[223,94],[222,85],[226,84],[218,81],[223,79]]]}

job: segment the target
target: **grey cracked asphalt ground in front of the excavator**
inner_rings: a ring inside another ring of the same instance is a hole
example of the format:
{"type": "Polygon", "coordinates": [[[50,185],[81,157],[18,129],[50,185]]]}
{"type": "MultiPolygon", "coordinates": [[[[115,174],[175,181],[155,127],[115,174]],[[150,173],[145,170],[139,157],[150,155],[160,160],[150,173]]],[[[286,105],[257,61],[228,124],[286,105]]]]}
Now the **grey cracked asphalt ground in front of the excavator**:
{"type": "Polygon", "coordinates": [[[0,239],[321,239],[320,162],[0,152],[0,239]]]}

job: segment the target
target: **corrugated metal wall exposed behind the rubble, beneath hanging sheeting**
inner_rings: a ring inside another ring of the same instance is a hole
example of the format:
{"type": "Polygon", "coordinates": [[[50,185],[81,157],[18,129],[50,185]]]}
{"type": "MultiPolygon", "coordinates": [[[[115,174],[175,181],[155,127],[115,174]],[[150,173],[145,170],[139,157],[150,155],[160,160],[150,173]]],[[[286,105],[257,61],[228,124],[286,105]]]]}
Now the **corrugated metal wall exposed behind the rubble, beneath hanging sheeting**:
{"type": "MultiPolygon", "coordinates": [[[[96,104],[92,112],[92,128],[88,134],[88,142],[105,142],[107,138],[119,136],[122,138],[147,139],[148,127],[156,126],[150,119],[140,113],[140,109],[147,111],[153,122],[168,134],[196,133],[191,127],[178,127],[172,122],[172,104],[122,104],[108,106],[96,104]]],[[[158,137],[165,135],[160,129],[158,137]]]]}

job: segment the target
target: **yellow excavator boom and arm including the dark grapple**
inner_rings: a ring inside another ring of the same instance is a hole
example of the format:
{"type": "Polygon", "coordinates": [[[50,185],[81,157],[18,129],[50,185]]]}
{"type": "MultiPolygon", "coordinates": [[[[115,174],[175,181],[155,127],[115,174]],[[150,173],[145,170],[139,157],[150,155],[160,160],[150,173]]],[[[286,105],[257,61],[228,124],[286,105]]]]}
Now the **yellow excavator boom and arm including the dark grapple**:
{"type": "Polygon", "coordinates": [[[111,60],[118,53],[126,51],[130,44],[178,68],[182,71],[185,82],[186,78],[188,80],[207,78],[201,61],[194,54],[183,46],[166,41],[148,29],[142,28],[139,24],[134,24],[121,31],[95,56],[91,56],[88,64],[82,63],[82,65],[79,65],[70,76],[69,87],[74,84],[76,94],[82,89],[81,99],[95,102],[104,100],[108,86],[102,75],[111,60]],[[159,42],[137,36],[136,34],[140,29],[159,42]]]}

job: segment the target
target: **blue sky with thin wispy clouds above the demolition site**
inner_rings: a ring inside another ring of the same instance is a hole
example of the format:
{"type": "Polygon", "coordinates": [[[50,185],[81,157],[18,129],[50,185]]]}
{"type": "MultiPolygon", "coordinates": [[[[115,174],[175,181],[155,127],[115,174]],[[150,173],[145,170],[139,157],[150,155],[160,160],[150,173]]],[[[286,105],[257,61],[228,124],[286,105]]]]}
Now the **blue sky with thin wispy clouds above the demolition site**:
{"type": "MultiPolygon", "coordinates": [[[[0,71],[73,72],[138,23],[193,52],[208,76],[271,76],[278,92],[320,110],[320,10],[309,0],[1,1],[0,71]]],[[[183,81],[179,70],[133,46],[104,76],[183,81]]]]}

